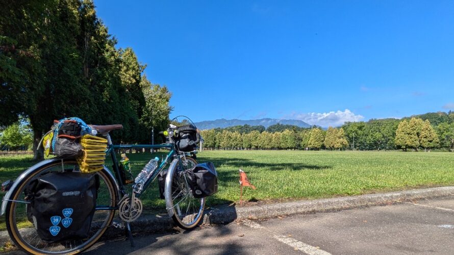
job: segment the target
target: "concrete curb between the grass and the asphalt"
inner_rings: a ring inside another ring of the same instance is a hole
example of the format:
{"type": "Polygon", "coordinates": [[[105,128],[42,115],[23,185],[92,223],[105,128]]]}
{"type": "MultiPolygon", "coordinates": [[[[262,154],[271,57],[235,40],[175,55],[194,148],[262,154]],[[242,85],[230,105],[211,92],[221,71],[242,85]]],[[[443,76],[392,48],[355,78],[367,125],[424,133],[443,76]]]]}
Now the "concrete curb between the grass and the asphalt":
{"type": "MultiPolygon", "coordinates": [[[[414,189],[360,196],[336,197],[318,200],[303,200],[250,207],[220,206],[205,212],[204,224],[225,224],[242,219],[265,219],[281,215],[307,214],[340,211],[352,208],[383,205],[396,201],[408,201],[454,195],[454,186],[414,189]]],[[[163,232],[175,228],[172,219],[166,215],[143,216],[132,223],[133,234],[163,232]]],[[[110,227],[103,239],[123,235],[124,231],[110,227]]],[[[9,240],[7,231],[0,233],[0,244],[9,240]]]]}

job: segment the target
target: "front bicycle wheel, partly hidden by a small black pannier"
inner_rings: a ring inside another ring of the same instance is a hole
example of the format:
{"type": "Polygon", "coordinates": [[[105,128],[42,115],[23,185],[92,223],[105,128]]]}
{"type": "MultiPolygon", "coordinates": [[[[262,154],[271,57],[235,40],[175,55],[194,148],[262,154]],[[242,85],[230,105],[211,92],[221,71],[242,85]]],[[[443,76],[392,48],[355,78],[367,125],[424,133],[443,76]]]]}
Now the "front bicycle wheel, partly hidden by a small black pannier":
{"type": "MultiPolygon", "coordinates": [[[[173,161],[178,161],[174,159],[173,161]]],[[[185,179],[184,170],[189,169],[197,164],[192,158],[185,157],[179,162],[172,162],[167,172],[165,195],[171,195],[171,198],[166,197],[166,208],[171,215],[173,221],[179,227],[190,230],[197,226],[202,219],[205,209],[205,197],[194,198],[189,189],[188,182],[185,179]],[[181,210],[183,207],[184,210],[181,210]]]]}

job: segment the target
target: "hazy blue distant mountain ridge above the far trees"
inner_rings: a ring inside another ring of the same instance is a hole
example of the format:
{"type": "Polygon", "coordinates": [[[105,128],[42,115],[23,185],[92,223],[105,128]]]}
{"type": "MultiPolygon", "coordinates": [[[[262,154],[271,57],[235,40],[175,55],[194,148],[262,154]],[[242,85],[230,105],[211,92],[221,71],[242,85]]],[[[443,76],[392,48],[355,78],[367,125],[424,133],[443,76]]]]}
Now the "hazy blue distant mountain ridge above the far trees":
{"type": "Polygon", "coordinates": [[[311,127],[310,124],[296,119],[270,119],[270,118],[263,118],[263,119],[250,119],[250,120],[242,120],[242,119],[217,119],[217,120],[206,120],[195,122],[194,124],[198,127],[199,130],[206,130],[206,129],[215,129],[216,127],[220,127],[224,129],[225,127],[229,126],[236,126],[236,125],[251,125],[257,126],[262,125],[265,129],[274,124],[283,124],[283,125],[295,125],[299,127],[311,127]]]}

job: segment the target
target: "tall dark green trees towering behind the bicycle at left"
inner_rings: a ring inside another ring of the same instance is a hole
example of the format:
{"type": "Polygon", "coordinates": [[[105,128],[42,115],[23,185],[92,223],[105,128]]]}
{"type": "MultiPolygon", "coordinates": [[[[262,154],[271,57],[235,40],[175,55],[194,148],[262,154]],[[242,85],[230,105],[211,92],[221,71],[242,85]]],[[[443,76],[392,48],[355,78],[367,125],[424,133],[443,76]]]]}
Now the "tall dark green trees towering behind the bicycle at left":
{"type": "Polygon", "coordinates": [[[116,43],[91,0],[4,1],[0,132],[28,119],[37,159],[43,134],[63,117],[120,123],[113,139],[149,143],[151,127],[158,132],[169,121],[171,93],[149,82],[132,48],[116,43]]]}

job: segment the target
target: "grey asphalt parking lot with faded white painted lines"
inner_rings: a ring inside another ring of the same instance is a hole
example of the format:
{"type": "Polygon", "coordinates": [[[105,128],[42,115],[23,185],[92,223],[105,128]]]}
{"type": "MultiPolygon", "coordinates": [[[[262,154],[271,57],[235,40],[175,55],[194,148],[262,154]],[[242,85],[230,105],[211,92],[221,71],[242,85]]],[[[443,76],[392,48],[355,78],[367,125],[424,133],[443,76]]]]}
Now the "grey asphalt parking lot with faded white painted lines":
{"type": "Polygon", "coordinates": [[[454,254],[454,197],[244,220],[96,244],[88,254],[454,254]]]}

